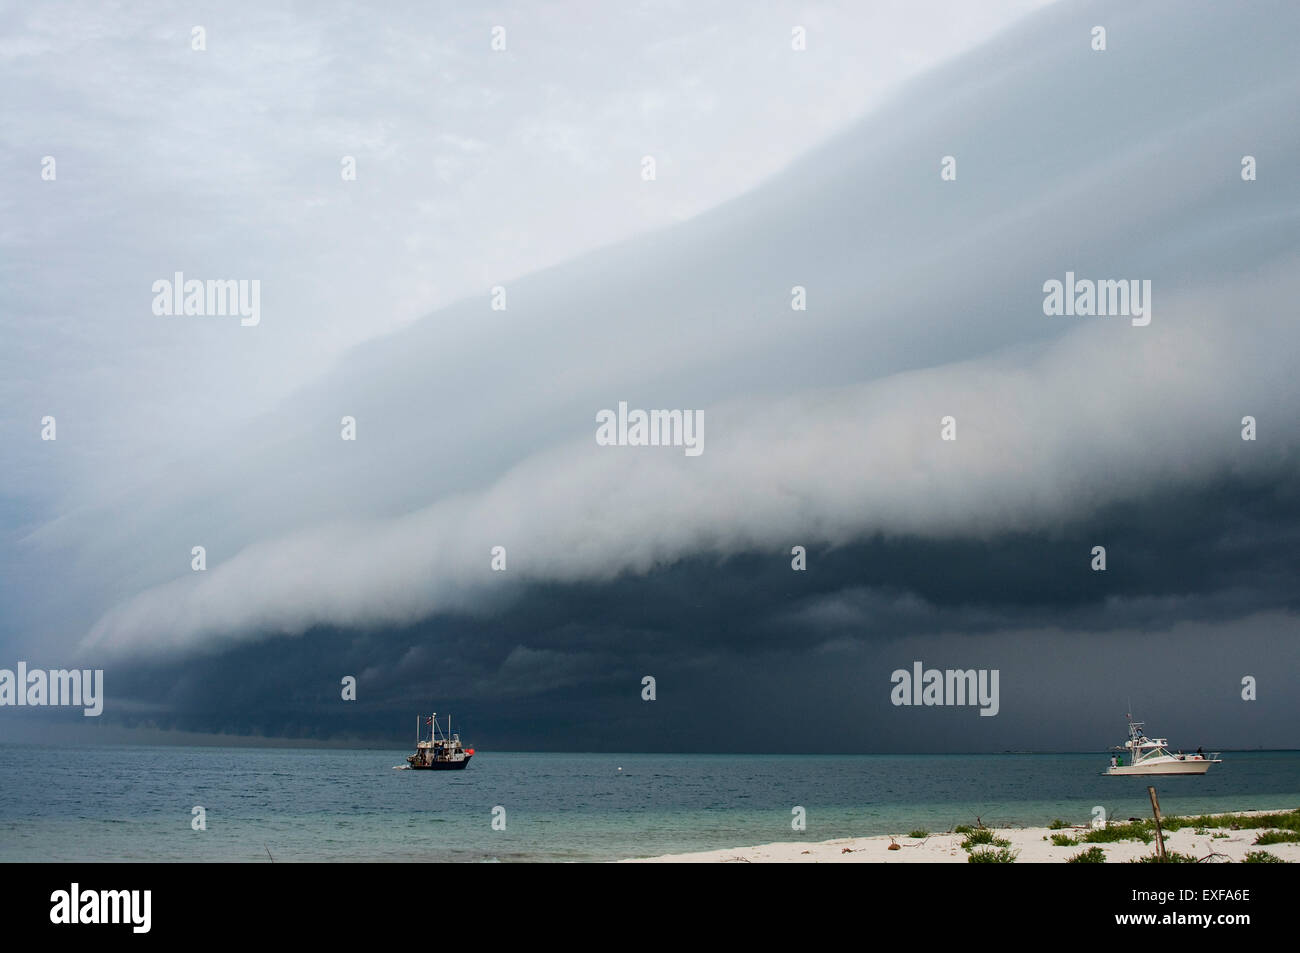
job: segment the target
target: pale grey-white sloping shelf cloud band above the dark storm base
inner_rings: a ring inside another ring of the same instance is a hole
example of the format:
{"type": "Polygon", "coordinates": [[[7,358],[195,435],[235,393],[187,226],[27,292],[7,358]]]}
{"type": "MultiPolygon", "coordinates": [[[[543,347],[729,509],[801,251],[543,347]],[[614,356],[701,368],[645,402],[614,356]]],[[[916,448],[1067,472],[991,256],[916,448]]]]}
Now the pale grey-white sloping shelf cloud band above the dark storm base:
{"type": "Polygon", "coordinates": [[[1300,234],[1277,209],[1300,186],[1238,173],[1300,147],[1275,121],[1300,68],[1221,7],[1105,8],[1105,53],[1079,39],[1096,16],[1035,17],[764,187],[512,282],[507,311],[468,300],[369,342],[195,469],[43,528],[122,593],[84,645],[407,625],[790,537],[968,545],[1287,478],[1300,326],[1277,316],[1300,234]],[[1045,316],[1067,270],[1149,280],[1152,324],[1045,316]],[[705,452],[595,446],[620,399],[702,408],[705,452]]]}

